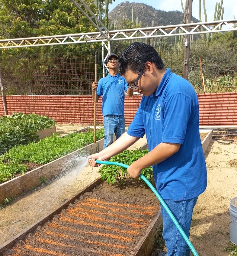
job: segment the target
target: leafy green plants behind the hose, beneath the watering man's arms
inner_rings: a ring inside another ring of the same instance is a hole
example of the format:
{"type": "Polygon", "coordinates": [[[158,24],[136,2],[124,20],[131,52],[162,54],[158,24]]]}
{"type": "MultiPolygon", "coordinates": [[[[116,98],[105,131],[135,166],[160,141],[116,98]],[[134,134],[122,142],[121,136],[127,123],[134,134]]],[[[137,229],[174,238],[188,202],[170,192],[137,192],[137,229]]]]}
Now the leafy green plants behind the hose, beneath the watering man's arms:
{"type": "MultiPolygon", "coordinates": [[[[134,161],[136,161],[138,158],[143,157],[147,153],[148,153],[147,149],[125,150],[111,157],[110,161],[130,165],[134,161]]],[[[115,181],[117,181],[119,184],[123,184],[127,177],[127,169],[117,165],[103,165],[99,171],[100,171],[102,180],[106,180],[108,184],[109,183],[114,184],[115,181]]],[[[142,174],[148,180],[150,180],[153,174],[152,167],[143,169],[142,174]]],[[[143,184],[145,185],[145,187],[147,187],[146,183],[143,182],[143,184]]]]}

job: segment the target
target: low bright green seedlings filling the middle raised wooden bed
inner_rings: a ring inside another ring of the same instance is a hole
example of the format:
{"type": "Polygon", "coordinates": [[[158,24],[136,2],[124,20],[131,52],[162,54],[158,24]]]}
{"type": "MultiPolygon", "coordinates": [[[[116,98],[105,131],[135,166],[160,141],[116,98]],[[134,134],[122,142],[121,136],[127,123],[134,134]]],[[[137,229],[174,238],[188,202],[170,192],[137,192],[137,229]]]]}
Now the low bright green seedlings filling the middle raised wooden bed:
{"type": "MultiPolygon", "coordinates": [[[[96,140],[104,138],[104,129],[96,132],[96,140]]],[[[59,157],[78,150],[94,141],[94,131],[69,134],[60,137],[53,134],[38,143],[32,142],[27,145],[18,145],[10,149],[0,157],[0,182],[5,182],[15,174],[23,174],[27,171],[27,162],[46,164],[59,157]]]]}

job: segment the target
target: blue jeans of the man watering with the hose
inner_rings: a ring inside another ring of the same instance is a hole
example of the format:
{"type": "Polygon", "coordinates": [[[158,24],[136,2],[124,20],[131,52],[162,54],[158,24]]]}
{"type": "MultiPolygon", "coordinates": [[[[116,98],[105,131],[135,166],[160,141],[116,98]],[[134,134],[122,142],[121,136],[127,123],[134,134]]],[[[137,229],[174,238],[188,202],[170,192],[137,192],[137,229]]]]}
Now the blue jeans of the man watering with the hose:
{"type": "MultiPolygon", "coordinates": [[[[184,201],[164,200],[188,238],[193,208],[197,199],[198,196],[184,201]]],[[[160,205],[160,209],[163,218],[162,236],[168,251],[167,256],[190,256],[190,248],[179,230],[162,205],[160,205]]]]}

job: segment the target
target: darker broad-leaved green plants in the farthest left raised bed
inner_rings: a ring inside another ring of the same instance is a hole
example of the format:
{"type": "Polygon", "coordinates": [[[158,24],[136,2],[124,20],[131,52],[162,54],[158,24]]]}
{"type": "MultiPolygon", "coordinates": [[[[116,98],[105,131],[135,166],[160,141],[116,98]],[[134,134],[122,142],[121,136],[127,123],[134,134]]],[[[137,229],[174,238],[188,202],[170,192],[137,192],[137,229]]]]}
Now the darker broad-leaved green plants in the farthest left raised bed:
{"type": "Polygon", "coordinates": [[[11,116],[0,117],[0,155],[15,145],[26,145],[39,141],[40,130],[56,125],[56,122],[37,114],[13,113],[11,116]]]}

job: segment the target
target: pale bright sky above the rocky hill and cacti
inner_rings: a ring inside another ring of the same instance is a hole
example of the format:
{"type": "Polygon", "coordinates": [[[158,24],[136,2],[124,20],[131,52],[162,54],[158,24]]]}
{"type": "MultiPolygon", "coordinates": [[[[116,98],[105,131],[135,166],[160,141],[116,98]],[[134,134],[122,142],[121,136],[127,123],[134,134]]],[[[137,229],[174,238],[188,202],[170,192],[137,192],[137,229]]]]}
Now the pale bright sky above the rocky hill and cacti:
{"type": "MultiPolygon", "coordinates": [[[[126,0],[115,0],[109,4],[109,11],[112,11],[118,4],[125,3],[126,0]]],[[[181,7],[181,0],[128,0],[130,3],[144,3],[152,6],[156,10],[162,11],[183,11],[181,7]]],[[[221,0],[206,0],[207,21],[213,21],[216,3],[221,0]]],[[[183,0],[185,6],[185,0],[183,0]]],[[[236,0],[223,0],[224,16],[223,20],[237,19],[237,1],[236,0]],[[235,16],[235,17],[234,17],[235,16]]],[[[203,1],[201,1],[201,10],[203,10],[203,1]]],[[[199,19],[199,0],[193,0],[192,16],[199,19]]],[[[204,13],[202,11],[202,21],[205,21],[204,13]]]]}

